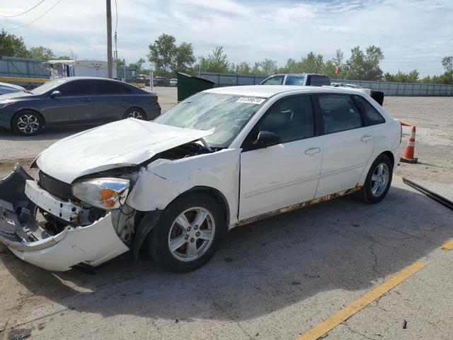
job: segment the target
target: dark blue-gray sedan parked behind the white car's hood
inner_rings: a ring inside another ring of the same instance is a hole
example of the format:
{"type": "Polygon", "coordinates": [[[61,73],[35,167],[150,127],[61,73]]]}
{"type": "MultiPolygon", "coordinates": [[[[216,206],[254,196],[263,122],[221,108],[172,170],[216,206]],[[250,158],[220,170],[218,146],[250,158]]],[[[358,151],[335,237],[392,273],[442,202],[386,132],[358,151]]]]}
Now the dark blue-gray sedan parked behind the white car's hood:
{"type": "Polygon", "coordinates": [[[35,135],[45,126],[97,125],[161,113],[155,92],[113,79],[69,77],[0,96],[0,127],[35,135]]]}

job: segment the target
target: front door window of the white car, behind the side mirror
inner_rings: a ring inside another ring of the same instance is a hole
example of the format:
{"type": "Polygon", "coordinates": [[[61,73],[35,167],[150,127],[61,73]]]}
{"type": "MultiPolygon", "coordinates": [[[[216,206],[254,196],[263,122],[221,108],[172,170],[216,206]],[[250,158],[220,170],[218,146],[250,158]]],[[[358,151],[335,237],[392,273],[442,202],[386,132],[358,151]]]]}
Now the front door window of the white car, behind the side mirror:
{"type": "Polygon", "coordinates": [[[314,136],[314,115],[309,96],[284,98],[275,103],[258,126],[258,132],[275,132],[282,142],[314,136]]]}

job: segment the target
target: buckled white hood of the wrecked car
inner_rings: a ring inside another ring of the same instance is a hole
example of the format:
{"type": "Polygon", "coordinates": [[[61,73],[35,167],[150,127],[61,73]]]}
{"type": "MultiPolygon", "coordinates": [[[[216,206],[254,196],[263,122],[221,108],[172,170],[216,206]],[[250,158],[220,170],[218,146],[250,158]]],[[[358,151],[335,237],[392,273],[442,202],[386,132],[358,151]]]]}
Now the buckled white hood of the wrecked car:
{"type": "Polygon", "coordinates": [[[213,132],[129,118],[59,140],[38,156],[36,164],[45,174],[72,183],[98,171],[142,164],[159,152],[213,132]]]}

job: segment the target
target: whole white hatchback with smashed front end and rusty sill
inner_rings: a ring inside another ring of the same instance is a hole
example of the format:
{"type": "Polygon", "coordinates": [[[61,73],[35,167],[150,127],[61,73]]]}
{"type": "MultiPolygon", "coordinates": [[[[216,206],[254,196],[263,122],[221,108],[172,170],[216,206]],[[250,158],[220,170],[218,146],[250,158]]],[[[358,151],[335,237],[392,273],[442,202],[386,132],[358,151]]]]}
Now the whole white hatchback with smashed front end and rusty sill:
{"type": "Polygon", "coordinates": [[[233,227],[353,192],[378,203],[400,144],[398,120],[359,91],[210,89],[154,122],[56,142],[31,165],[38,181],[16,166],[0,182],[0,241],[52,271],[137,259],[142,246],[190,271],[233,227]]]}

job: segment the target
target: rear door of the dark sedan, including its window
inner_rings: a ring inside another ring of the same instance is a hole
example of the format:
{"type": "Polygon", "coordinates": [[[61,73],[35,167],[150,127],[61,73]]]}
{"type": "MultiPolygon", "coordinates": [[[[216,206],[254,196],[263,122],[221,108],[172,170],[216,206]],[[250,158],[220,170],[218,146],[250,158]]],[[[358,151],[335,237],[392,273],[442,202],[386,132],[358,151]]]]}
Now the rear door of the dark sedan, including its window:
{"type": "Polygon", "coordinates": [[[94,119],[98,123],[120,120],[125,114],[129,97],[119,81],[96,80],[94,119]]]}

